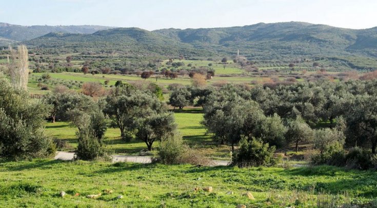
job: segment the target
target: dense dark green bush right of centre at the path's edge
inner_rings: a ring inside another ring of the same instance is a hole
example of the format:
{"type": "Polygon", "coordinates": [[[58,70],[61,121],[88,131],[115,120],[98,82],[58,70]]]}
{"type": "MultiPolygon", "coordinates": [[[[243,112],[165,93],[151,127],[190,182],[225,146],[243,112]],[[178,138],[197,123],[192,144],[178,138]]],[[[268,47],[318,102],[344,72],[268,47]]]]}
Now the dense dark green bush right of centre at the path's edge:
{"type": "Polygon", "coordinates": [[[240,168],[258,167],[260,165],[273,165],[275,160],[272,158],[275,147],[269,147],[268,143],[263,143],[261,139],[253,138],[248,140],[242,138],[239,149],[236,150],[232,164],[240,168]]]}

